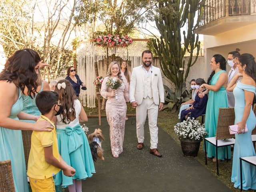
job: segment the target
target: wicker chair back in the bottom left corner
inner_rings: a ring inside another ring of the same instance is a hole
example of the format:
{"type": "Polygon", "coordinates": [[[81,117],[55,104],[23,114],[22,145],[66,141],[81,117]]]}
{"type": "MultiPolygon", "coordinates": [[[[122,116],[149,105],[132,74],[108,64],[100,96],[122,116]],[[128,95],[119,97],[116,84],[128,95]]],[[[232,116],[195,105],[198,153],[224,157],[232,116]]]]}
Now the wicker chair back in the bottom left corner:
{"type": "Polygon", "coordinates": [[[11,161],[0,161],[0,191],[15,192],[11,161]]]}

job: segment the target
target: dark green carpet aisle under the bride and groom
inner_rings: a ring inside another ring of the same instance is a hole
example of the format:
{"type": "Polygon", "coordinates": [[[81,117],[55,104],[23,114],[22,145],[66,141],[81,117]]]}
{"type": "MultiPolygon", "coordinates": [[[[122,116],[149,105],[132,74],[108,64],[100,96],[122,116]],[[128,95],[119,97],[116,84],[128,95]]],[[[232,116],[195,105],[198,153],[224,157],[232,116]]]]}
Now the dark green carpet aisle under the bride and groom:
{"type": "Polygon", "coordinates": [[[124,152],[113,158],[110,149],[109,126],[102,118],[90,118],[86,126],[89,133],[101,128],[106,137],[102,143],[104,161],[95,164],[96,174],[84,180],[84,192],[230,192],[194,158],[182,156],[178,145],[159,128],[158,148],[163,155],[158,158],[149,153],[150,136],[145,125],[145,146],[137,150],[135,117],[126,121],[124,152]]]}

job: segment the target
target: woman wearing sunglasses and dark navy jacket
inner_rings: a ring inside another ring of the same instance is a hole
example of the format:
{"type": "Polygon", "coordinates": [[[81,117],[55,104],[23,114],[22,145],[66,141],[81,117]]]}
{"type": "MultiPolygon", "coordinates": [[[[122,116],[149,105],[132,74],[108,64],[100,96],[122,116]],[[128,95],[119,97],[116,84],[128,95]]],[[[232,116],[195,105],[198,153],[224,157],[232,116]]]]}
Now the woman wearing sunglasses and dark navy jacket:
{"type": "Polygon", "coordinates": [[[85,84],[80,80],[78,74],[76,74],[76,69],[73,66],[70,66],[68,68],[67,75],[68,76],[66,76],[66,80],[68,80],[72,84],[76,96],[79,97],[80,86],[82,86],[82,90],[86,90],[85,84]]]}

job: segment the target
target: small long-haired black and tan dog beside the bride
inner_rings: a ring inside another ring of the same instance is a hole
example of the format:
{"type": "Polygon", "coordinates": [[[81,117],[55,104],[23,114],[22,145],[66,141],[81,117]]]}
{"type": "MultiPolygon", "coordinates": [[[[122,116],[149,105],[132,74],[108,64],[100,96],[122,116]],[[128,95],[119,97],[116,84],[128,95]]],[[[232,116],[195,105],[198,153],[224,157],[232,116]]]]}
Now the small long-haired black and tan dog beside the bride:
{"type": "Polygon", "coordinates": [[[95,129],[92,134],[88,136],[90,143],[90,149],[92,153],[92,159],[96,162],[97,157],[100,160],[104,160],[103,150],[101,148],[101,142],[105,139],[101,129],[95,129]]]}

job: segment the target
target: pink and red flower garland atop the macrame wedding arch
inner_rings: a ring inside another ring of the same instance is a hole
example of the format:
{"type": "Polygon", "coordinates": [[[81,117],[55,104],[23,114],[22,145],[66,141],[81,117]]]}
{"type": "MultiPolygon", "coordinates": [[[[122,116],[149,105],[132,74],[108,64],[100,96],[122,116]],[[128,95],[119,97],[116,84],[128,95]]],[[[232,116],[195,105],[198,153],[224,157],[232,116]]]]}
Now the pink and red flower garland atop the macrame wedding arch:
{"type": "Polygon", "coordinates": [[[107,47],[114,47],[114,46],[121,46],[121,47],[127,47],[130,44],[132,44],[132,39],[125,36],[120,35],[98,35],[96,38],[94,38],[94,42],[98,46],[107,46],[107,47]]]}

